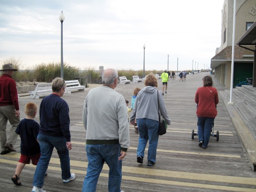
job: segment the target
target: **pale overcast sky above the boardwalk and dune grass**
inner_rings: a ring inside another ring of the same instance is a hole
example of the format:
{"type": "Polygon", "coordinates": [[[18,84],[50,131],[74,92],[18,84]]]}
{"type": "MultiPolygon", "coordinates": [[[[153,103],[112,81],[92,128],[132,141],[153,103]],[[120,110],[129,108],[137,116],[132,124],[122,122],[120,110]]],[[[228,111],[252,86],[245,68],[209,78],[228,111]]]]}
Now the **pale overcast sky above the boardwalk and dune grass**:
{"type": "Polygon", "coordinates": [[[0,0],[0,60],[84,69],[208,69],[221,44],[223,0],[0,0]],[[199,65],[198,65],[199,63],[199,65]],[[204,65],[205,63],[205,65],[204,65]]]}

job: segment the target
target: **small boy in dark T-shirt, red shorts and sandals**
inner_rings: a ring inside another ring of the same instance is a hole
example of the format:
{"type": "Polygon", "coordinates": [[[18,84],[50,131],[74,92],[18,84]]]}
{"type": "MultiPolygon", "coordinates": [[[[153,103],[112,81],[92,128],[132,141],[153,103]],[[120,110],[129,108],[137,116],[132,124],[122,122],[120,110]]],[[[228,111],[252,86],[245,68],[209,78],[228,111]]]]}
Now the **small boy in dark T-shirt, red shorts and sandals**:
{"type": "MultiPolygon", "coordinates": [[[[37,140],[39,132],[39,124],[34,121],[37,112],[37,105],[35,103],[27,103],[25,105],[26,118],[21,120],[16,133],[20,135],[20,160],[18,161],[15,174],[11,178],[15,185],[21,185],[20,174],[26,164],[32,161],[33,165],[37,165],[41,156],[40,146],[37,140]]],[[[45,174],[46,176],[47,174],[45,174]]]]}

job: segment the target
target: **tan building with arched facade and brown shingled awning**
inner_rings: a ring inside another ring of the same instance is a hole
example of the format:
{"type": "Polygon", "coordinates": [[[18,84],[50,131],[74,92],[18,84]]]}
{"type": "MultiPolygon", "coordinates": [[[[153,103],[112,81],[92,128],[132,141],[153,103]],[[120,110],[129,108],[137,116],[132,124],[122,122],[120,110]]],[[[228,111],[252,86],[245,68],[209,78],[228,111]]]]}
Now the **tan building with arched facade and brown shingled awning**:
{"type": "MultiPolygon", "coordinates": [[[[231,59],[232,59],[232,34],[233,34],[233,0],[224,0],[222,9],[222,36],[221,45],[216,48],[215,56],[211,59],[211,69],[215,69],[216,79],[225,87],[230,88],[231,59]]],[[[236,0],[236,29],[235,42],[256,21],[256,1],[236,0]]],[[[256,37],[255,37],[256,38],[256,37]]],[[[255,49],[255,46],[247,46],[255,49]]],[[[251,78],[253,72],[254,53],[235,45],[234,51],[234,79],[251,78]]]]}

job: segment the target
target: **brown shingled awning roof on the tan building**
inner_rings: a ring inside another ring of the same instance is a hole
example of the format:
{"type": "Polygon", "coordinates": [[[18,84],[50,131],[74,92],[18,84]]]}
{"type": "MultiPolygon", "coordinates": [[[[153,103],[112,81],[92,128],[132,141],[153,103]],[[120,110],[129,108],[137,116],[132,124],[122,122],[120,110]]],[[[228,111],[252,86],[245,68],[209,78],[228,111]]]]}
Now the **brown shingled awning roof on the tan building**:
{"type": "MultiPolygon", "coordinates": [[[[255,48],[254,45],[246,46],[249,49],[255,48]]],[[[234,62],[253,62],[254,53],[248,49],[243,49],[235,45],[234,62]]],[[[232,46],[225,47],[220,53],[211,58],[211,69],[218,67],[218,65],[232,60],[232,46]]]]}

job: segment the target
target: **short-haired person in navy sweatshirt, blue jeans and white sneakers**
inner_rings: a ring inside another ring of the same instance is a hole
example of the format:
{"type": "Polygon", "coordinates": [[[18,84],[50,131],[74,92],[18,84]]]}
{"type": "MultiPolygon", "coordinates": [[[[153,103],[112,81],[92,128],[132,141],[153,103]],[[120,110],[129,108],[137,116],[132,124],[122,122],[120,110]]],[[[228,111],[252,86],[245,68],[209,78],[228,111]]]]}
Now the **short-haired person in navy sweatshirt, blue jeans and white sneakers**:
{"type": "Polygon", "coordinates": [[[53,93],[45,97],[40,104],[39,140],[41,157],[34,173],[32,192],[44,192],[44,175],[49,165],[53,148],[60,157],[63,183],[75,178],[70,173],[69,150],[72,149],[69,130],[69,106],[62,98],[67,84],[62,78],[55,78],[52,82],[53,93]]]}

